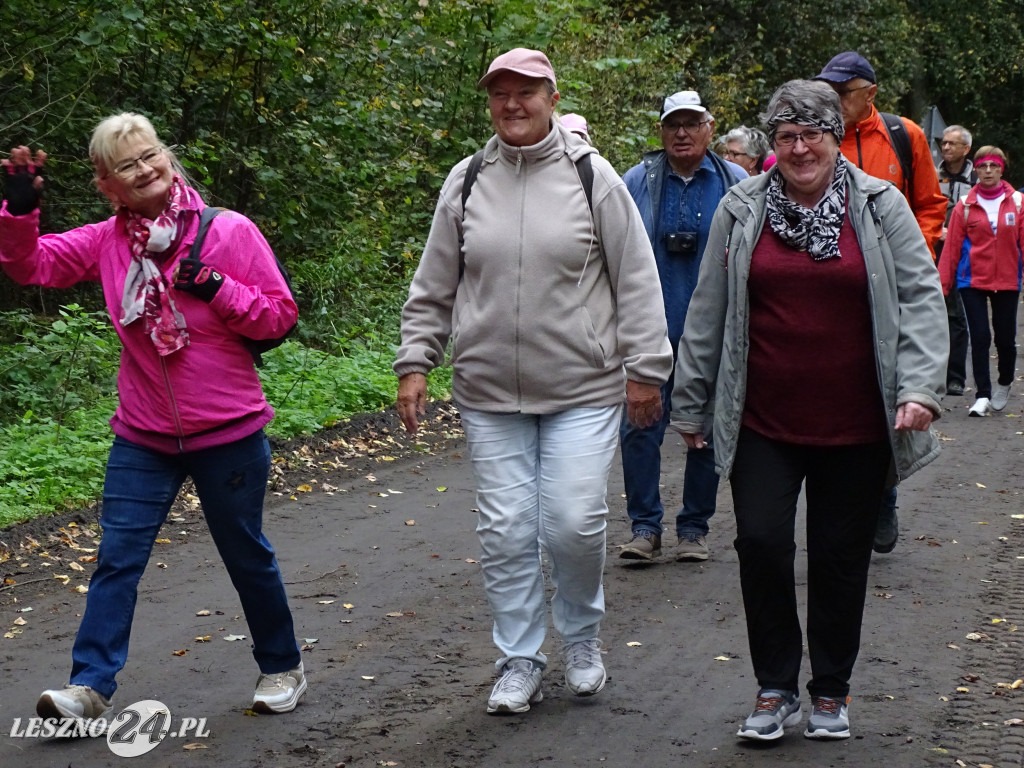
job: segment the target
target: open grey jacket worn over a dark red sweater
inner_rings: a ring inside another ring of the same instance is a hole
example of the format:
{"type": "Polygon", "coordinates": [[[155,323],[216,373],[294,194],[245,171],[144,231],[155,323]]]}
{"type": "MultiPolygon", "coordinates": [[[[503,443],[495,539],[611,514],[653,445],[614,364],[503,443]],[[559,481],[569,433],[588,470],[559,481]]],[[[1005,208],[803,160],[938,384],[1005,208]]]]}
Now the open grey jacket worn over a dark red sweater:
{"type": "MultiPolygon", "coordinates": [[[[746,281],[764,226],[769,177],[740,181],[722,199],[679,343],[672,425],[706,432],[714,419],[716,466],[723,477],[732,470],[746,397],[746,281]]],[[[847,179],[848,216],[867,267],[879,387],[898,481],[939,454],[933,430],[897,432],[893,425],[904,402],[929,408],[936,419],[942,413],[949,351],[945,304],[932,254],[899,189],[848,162],[847,179]]],[[[799,382],[794,396],[807,396],[799,382]]]]}

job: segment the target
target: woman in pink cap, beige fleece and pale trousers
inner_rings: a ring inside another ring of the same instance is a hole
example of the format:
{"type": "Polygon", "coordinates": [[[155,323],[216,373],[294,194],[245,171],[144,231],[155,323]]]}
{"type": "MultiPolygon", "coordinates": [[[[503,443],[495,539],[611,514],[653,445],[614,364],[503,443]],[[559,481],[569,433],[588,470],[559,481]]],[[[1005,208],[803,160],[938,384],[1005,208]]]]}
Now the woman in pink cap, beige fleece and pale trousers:
{"type": "Polygon", "coordinates": [[[469,197],[469,158],[441,188],[394,371],[398,411],[415,432],[424,375],[453,338],[453,396],[476,478],[483,585],[501,652],[487,712],[523,713],[543,697],[547,666],[541,547],[551,559],[566,687],[584,696],[604,687],[597,633],[608,471],[624,400],[640,426],[662,413],[672,349],[640,214],[611,166],[554,119],[548,57],[511,50],[479,86],[495,135],[477,156],[469,197]]]}

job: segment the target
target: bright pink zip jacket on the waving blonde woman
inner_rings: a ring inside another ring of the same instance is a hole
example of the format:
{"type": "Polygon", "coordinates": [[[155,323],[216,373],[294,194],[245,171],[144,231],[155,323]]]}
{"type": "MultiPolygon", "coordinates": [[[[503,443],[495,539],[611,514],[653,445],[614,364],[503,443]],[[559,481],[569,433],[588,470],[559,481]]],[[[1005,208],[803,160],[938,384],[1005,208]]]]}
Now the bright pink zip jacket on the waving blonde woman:
{"type": "MultiPolygon", "coordinates": [[[[194,204],[203,207],[189,190],[194,204]]],[[[189,214],[174,253],[162,264],[170,281],[188,255],[199,230],[189,214]]],[[[184,315],[189,345],[161,357],[142,321],[120,323],[121,297],[131,262],[123,215],[62,234],[39,234],[39,211],[11,216],[0,208],[0,264],[22,285],[67,288],[99,281],[106,309],[121,337],[120,402],[111,419],[115,434],[163,453],[222,445],[260,429],[273,418],[244,337],[282,336],[298,315],[270,246],[245,216],[217,216],[203,244],[202,259],[224,275],[207,304],[173,288],[184,315]]]]}

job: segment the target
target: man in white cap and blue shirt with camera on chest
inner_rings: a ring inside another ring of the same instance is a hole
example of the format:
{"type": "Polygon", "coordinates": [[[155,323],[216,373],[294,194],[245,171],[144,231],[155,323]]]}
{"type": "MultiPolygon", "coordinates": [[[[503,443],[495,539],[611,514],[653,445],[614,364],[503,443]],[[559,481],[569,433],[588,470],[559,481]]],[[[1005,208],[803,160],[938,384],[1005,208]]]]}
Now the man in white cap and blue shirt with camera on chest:
{"type": "MultiPolygon", "coordinates": [[[[708,152],[715,119],[695,91],[680,91],[665,99],[658,132],[663,148],[647,153],[623,180],[640,209],[654,248],[669,341],[675,353],[715,208],[726,189],[746,178],[746,172],[708,152]]],[[[626,509],[633,529],[633,538],[622,546],[620,557],[628,560],[653,560],[662,554],[665,508],[658,483],[672,386],[670,377],[662,387],[662,418],[653,426],[640,429],[624,419],[620,430],[626,509]]],[[[715,514],[717,496],[713,446],[690,449],[683,476],[683,507],[676,517],[677,560],[708,559],[708,520],[715,514]]]]}

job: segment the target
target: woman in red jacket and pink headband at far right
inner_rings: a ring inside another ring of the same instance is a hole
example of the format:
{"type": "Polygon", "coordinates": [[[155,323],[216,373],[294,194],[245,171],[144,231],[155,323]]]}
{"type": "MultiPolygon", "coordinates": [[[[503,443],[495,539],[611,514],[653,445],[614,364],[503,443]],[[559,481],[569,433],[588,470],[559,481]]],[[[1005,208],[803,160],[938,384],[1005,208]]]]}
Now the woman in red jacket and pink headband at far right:
{"type": "Polygon", "coordinates": [[[977,399],[970,416],[987,416],[1007,407],[1017,362],[1017,304],[1024,272],[1021,194],[1002,180],[1007,156],[982,146],[974,156],[978,183],[949,216],[939,270],[942,292],[958,290],[971,334],[971,366],[977,399]],[[988,314],[991,305],[992,327],[988,314]],[[988,350],[995,336],[998,379],[992,386],[988,350]]]}

